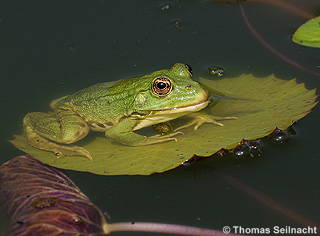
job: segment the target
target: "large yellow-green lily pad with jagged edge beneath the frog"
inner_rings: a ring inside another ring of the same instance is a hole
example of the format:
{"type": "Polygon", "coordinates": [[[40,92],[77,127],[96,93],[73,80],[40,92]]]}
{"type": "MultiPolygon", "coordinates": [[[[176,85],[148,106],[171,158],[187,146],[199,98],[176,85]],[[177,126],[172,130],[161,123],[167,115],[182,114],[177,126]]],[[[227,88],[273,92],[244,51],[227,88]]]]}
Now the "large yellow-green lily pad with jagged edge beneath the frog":
{"type": "Polygon", "coordinates": [[[202,112],[237,116],[238,119],[221,121],[223,127],[204,124],[198,130],[187,128],[183,130],[184,135],[177,136],[178,142],[142,147],[116,144],[95,133],[77,143],[92,154],[92,161],[76,156],[57,159],[49,152],[29,146],[22,135],[15,136],[11,142],[18,149],[59,168],[100,175],[149,175],[173,169],[194,155],[208,157],[222,148],[236,147],[243,139],[254,140],[270,134],[275,128],[286,129],[317,104],[315,89],[307,90],[295,79],[281,80],[274,75],[256,78],[244,74],[219,80],[200,78],[199,81],[218,94],[202,112]]]}

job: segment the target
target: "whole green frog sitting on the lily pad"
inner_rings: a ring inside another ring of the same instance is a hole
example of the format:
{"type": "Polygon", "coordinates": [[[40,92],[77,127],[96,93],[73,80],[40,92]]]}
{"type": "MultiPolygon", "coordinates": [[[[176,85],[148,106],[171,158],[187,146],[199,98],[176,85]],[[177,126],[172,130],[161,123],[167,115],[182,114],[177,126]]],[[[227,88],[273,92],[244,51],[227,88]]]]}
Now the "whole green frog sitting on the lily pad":
{"type": "MultiPolygon", "coordinates": [[[[70,145],[90,130],[104,132],[107,138],[128,146],[177,141],[179,128],[149,137],[134,131],[194,113],[208,103],[208,92],[192,80],[190,66],[177,63],[170,69],[95,84],[56,99],[50,104],[52,112],[28,113],[23,128],[27,142],[35,148],[57,157],[80,155],[92,159],[85,148],[70,145]]],[[[195,125],[197,129],[205,122],[222,125],[210,117],[193,118],[182,128],[195,125]]]]}

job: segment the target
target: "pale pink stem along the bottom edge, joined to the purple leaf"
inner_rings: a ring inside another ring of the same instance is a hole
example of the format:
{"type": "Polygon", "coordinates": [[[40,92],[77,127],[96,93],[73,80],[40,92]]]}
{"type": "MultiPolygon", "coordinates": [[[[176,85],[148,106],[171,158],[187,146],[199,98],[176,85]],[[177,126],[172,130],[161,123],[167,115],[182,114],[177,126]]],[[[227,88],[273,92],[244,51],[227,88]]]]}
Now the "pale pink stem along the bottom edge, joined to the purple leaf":
{"type": "Polygon", "coordinates": [[[203,229],[192,226],[174,225],[174,224],[161,224],[161,223],[146,223],[146,222],[124,222],[113,223],[108,225],[110,232],[116,231],[130,231],[130,232],[154,232],[154,233],[167,233],[176,235],[194,235],[194,236],[236,236],[237,234],[225,234],[222,231],[203,229]]]}

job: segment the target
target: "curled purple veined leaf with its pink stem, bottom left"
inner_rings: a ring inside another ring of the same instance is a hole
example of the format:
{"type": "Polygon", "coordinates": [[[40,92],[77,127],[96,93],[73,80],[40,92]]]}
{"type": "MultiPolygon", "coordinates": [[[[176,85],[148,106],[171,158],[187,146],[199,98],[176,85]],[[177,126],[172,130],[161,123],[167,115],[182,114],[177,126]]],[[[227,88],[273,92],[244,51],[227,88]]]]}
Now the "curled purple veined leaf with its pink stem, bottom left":
{"type": "Polygon", "coordinates": [[[153,222],[107,224],[102,212],[65,174],[30,155],[0,166],[0,200],[11,218],[7,236],[93,236],[117,231],[225,235],[213,229],[153,222]]]}

